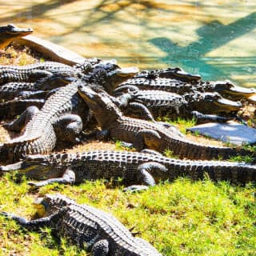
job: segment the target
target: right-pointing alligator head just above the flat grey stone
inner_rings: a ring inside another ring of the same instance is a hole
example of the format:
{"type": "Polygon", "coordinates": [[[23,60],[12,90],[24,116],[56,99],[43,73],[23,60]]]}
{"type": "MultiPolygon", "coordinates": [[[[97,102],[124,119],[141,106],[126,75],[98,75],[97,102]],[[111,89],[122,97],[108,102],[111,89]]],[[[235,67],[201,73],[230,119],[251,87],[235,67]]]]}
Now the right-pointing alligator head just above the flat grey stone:
{"type": "Polygon", "coordinates": [[[192,97],[194,98],[192,100],[192,102],[194,102],[194,104],[192,103],[194,105],[194,109],[202,111],[204,114],[230,113],[242,108],[241,102],[230,101],[229,99],[223,98],[216,92],[203,94],[198,93],[194,94],[192,97]]]}

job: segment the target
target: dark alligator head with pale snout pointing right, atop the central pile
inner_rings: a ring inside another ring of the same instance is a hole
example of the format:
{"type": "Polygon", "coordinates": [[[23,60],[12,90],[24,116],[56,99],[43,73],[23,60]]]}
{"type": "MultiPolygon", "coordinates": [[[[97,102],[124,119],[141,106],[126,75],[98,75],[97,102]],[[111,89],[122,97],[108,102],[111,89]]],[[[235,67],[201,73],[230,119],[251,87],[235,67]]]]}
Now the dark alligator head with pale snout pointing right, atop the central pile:
{"type": "Polygon", "coordinates": [[[89,81],[103,86],[108,94],[112,94],[120,83],[134,77],[137,73],[137,67],[120,68],[115,60],[102,61],[94,66],[89,81]]]}

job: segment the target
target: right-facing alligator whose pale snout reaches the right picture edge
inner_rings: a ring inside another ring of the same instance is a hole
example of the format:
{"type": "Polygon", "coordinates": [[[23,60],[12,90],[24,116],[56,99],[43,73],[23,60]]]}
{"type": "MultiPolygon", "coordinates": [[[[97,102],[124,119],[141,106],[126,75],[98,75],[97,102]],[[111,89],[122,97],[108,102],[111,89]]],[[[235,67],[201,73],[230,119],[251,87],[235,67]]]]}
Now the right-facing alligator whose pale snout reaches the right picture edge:
{"type": "Polygon", "coordinates": [[[250,98],[250,96],[256,94],[254,88],[235,86],[228,80],[190,83],[178,80],[177,78],[147,78],[143,76],[138,78],[135,76],[123,82],[114,90],[114,94],[127,92],[128,90],[165,90],[181,95],[197,92],[218,92],[223,97],[230,98],[234,101],[241,100],[242,98],[250,98]]]}

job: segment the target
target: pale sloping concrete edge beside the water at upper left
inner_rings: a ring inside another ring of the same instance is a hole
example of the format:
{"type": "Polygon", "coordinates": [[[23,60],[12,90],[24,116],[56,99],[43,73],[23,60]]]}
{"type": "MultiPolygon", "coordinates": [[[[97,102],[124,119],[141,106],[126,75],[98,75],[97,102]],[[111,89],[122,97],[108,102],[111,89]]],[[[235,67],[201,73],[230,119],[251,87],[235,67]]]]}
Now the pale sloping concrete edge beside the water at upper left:
{"type": "Polygon", "coordinates": [[[32,35],[27,35],[23,38],[15,38],[14,42],[18,42],[22,46],[31,47],[39,54],[51,58],[54,62],[62,62],[64,64],[73,66],[75,64],[81,64],[86,60],[86,58],[72,50],[68,50],[63,46],[58,46],[53,42],[34,37],[32,35]]]}

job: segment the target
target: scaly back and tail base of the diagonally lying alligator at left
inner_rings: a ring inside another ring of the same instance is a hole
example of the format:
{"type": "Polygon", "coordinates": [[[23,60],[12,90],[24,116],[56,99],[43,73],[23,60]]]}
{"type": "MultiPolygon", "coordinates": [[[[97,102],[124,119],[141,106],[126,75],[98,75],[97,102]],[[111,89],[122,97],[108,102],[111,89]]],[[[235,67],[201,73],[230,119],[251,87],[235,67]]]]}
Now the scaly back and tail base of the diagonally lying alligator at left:
{"type": "Polygon", "coordinates": [[[78,84],[72,82],[48,98],[42,109],[27,124],[22,136],[1,146],[0,161],[15,162],[22,154],[50,153],[57,139],[53,125],[62,114],[71,113],[77,107],[77,90],[78,84]]]}

